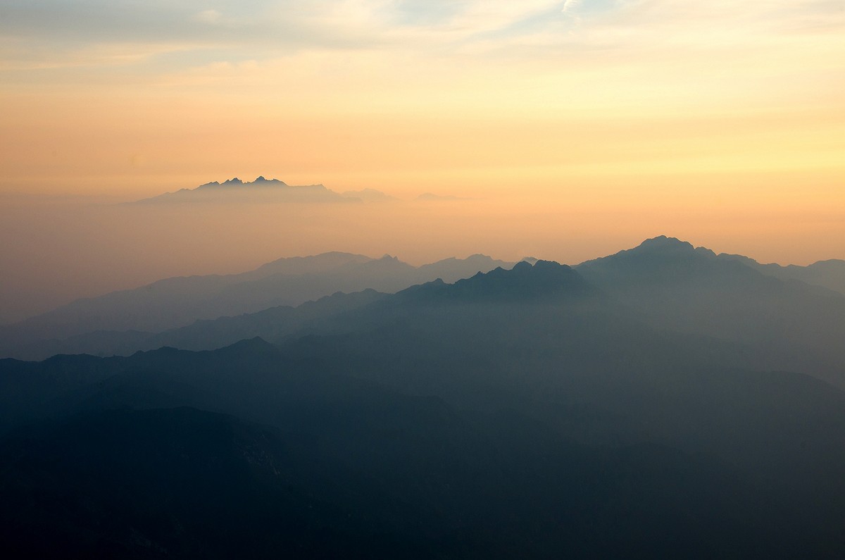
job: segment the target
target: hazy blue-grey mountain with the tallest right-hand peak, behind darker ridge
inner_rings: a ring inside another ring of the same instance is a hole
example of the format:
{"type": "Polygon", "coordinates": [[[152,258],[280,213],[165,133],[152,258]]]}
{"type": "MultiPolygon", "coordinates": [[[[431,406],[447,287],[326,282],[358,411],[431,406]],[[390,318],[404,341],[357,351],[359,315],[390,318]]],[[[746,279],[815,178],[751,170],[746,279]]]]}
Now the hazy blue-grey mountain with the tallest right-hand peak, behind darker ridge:
{"type": "Polygon", "coordinates": [[[750,344],[770,356],[767,367],[845,380],[845,294],[667,237],[575,269],[653,326],[750,344]]]}

